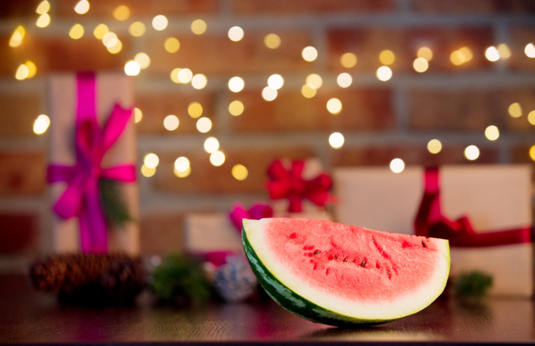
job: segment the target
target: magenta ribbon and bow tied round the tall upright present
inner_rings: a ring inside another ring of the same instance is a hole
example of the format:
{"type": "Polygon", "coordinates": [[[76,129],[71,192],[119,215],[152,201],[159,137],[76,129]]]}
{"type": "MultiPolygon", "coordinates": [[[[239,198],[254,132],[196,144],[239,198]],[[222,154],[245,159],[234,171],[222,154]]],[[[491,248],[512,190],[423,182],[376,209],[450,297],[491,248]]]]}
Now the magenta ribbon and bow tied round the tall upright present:
{"type": "Polygon", "coordinates": [[[98,193],[99,179],[133,182],[135,166],[121,164],[101,167],[104,154],[123,133],[132,110],[115,104],[101,129],[96,117],[96,78],[92,72],[77,74],[77,114],[74,129],[76,162],[74,166],[52,164],[47,169],[47,182],[67,182],[53,211],[62,219],[77,216],[82,252],[102,253],[108,250],[108,226],[98,193]]]}

